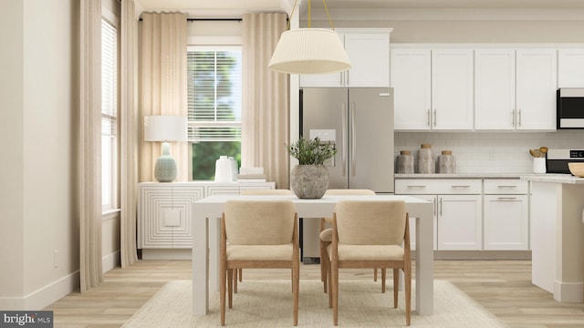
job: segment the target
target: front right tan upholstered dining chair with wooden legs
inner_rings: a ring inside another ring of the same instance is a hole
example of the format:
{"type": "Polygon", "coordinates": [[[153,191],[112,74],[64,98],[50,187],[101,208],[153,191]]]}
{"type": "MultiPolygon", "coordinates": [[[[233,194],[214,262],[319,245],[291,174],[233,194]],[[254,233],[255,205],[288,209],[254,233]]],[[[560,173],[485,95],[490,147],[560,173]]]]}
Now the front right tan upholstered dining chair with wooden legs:
{"type": "Polygon", "coordinates": [[[401,200],[341,200],[332,219],[328,301],[339,324],[339,268],[393,269],[393,307],[398,306],[400,270],[405,285],[405,322],[411,322],[412,259],[410,228],[401,200]]]}

